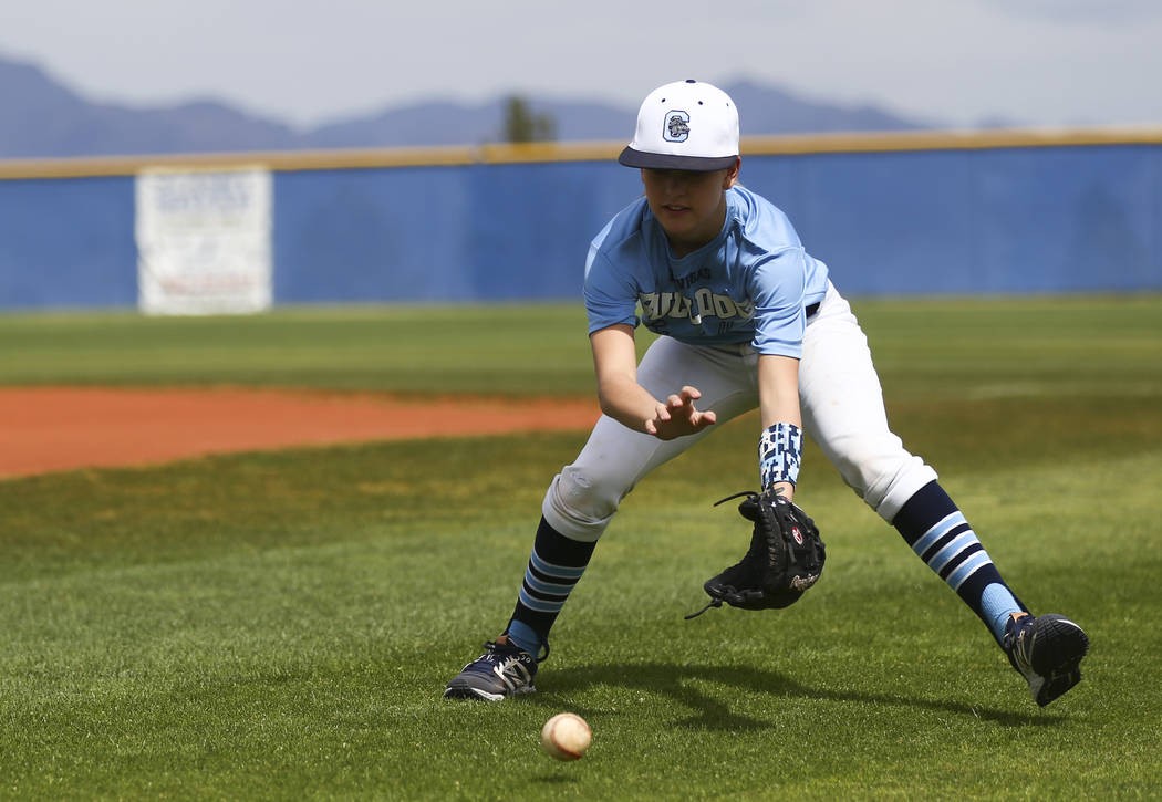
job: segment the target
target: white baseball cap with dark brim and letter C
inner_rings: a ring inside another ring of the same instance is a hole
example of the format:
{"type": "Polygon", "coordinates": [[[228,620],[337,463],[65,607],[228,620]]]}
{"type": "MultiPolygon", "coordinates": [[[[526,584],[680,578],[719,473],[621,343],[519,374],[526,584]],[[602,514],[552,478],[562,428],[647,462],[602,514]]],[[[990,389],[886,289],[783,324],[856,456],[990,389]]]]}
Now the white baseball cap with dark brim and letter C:
{"type": "Polygon", "coordinates": [[[694,79],[659,86],[638,110],[622,155],[626,167],[724,170],[738,158],[738,109],[717,86],[694,79]]]}

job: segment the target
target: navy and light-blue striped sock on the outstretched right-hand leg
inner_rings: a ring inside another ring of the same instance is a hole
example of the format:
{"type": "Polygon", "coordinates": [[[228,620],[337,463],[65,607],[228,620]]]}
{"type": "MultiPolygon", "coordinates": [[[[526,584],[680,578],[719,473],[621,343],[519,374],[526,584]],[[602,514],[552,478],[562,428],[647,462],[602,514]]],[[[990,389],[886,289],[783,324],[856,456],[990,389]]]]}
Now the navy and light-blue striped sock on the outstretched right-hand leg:
{"type": "Polygon", "coordinates": [[[998,644],[1009,616],[1027,613],[1000,578],[964,515],[937,482],[917,490],[891,524],[912,551],[976,613],[998,644]]]}

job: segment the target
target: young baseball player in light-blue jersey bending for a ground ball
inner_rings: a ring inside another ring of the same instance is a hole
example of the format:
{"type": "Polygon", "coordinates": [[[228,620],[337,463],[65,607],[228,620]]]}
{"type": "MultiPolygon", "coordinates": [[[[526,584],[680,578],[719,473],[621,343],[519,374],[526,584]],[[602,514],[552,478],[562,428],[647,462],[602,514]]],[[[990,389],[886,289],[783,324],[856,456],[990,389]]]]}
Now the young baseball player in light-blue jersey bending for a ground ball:
{"type": "Polygon", "coordinates": [[[758,408],[761,493],[739,507],[755,522],[752,547],[706,582],[711,604],[784,607],[818,578],[822,542],[816,573],[795,579],[791,596],[768,581],[768,556],[782,549],[769,538],[782,528],[802,543],[810,529],[792,501],[805,432],[1048,704],[1079,681],[1085,632],[1028,611],[935,471],[889,430],[859,322],[787,216],[739,184],[738,142],[734,103],[709,84],[667,84],[641,103],[618,162],[641,171],[645,194],[594,238],[586,263],[603,415],[548,487],[508,625],[444,695],[498,701],[532,692],[553,622],[621,501],[719,423],[758,408]],[[640,364],[639,324],[660,335],[640,364]]]}

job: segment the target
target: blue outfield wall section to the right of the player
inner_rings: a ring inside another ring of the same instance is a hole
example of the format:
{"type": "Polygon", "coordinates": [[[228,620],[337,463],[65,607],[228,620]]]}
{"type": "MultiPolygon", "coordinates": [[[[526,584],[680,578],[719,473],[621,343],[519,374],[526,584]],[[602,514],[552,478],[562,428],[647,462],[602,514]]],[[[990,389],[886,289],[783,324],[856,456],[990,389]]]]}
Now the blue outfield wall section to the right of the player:
{"type": "Polygon", "coordinates": [[[1162,288],[1157,146],[812,155],[744,173],[847,294],[1162,288]]]}

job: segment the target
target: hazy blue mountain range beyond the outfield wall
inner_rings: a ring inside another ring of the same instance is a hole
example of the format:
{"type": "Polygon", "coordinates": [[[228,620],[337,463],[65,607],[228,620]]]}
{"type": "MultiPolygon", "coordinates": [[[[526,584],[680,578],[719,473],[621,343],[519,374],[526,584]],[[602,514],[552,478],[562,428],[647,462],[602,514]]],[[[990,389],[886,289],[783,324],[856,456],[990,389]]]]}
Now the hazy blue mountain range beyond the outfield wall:
{"type": "MultiPolygon", "coordinates": [[[[723,84],[743,109],[744,135],[940,128],[874,106],[811,102],[751,81],[723,84]]],[[[558,141],[625,139],[636,109],[522,98],[551,117],[558,141]]],[[[502,139],[508,98],[431,101],[299,130],[215,100],[129,107],[87,100],[40,66],[0,57],[0,159],[464,145],[502,139]]]]}

